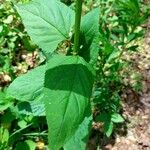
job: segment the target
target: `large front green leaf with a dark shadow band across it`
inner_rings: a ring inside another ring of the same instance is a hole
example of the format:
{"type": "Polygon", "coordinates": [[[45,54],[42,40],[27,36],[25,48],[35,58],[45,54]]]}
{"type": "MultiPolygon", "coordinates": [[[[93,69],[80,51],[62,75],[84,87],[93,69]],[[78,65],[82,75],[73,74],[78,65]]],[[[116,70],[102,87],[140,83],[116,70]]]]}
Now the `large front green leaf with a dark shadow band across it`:
{"type": "Polygon", "coordinates": [[[76,132],[89,107],[92,68],[78,56],[54,56],[47,63],[44,100],[49,148],[61,148],[76,132]]]}

